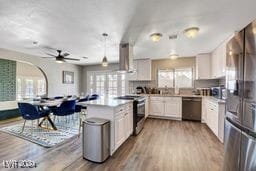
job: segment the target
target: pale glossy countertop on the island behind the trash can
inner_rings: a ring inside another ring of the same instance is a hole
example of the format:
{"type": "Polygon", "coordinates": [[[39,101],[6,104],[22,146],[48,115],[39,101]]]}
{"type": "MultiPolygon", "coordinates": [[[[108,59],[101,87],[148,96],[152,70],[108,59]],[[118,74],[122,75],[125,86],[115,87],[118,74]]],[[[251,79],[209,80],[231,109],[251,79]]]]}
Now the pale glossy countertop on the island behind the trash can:
{"type": "Polygon", "coordinates": [[[102,97],[98,100],[79,102],[77,104],[81,106],[98,105],[98,106],[107,106],[107,107],[117,107],[127,103],[132,103],[132,102],[133,102],[132,100],[121,100],[121,99],[115,99],[114,97],[102,97]]]}

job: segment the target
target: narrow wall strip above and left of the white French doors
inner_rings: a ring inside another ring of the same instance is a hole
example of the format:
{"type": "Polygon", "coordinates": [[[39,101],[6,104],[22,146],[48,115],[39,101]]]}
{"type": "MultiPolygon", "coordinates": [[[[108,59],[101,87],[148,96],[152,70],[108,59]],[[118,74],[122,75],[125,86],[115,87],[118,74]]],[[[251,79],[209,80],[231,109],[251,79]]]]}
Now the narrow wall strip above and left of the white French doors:
{"type": "Polygon", "coordinates": [[[119,65],[117,63],[109,64],[108,67],[102,67],[101,65],[88,65],[82,69],[82,89],[81,92],[87,93],[87,72],[88,71],[117,71],[119,65]]]}

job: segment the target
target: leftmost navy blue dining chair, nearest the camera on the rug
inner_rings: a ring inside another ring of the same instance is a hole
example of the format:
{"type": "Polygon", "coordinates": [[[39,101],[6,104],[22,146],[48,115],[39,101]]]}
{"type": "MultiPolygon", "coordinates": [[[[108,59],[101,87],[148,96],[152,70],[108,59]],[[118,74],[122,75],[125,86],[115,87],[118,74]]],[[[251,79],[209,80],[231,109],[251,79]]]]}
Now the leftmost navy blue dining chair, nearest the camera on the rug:
{"type": "MultiPolygon", "coordinates": [[[[39,122],[40,118],[44,118],[43,121],[45,119],[49,119],[50,110],[42,110],[42,109],[40,110],[39,106],[33,106],[32,104],[29,104],[29,103],[20,103],[20,102],[18,103],[18,107],[19,107],[19,112],[22,118],[24,119],[24,124],[21,130],[21,133],[24,131],[24,127],[27,120],[31,120],[33,124],[33,120],[38,120],[39,122]]],[[[31,130],[32,129],[33,127],[31,128],[31,130]]]]}

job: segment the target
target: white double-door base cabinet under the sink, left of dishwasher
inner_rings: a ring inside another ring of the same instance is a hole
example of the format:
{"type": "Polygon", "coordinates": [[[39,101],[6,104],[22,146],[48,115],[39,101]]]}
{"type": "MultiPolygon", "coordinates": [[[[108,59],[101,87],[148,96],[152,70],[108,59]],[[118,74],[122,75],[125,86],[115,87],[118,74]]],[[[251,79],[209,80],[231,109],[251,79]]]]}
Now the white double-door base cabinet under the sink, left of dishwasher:
{"type": "Polygon", "coordinates": [[[150,97],[150,115],[180,120],[181,103],[181,97],[150,97]]]}

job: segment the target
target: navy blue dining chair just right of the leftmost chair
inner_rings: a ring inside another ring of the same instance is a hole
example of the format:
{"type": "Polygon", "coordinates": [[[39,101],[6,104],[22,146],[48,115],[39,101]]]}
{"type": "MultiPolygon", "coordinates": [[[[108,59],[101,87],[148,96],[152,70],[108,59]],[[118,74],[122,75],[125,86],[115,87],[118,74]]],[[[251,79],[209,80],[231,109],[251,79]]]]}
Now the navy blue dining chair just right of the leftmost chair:
{"type": "Polygon", "coordinates": [[[68,116],[75,113],[76,100],[63,101],[59,107],[53,108],[54,121],[56,116],[68,116]]]}

